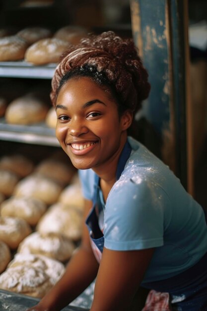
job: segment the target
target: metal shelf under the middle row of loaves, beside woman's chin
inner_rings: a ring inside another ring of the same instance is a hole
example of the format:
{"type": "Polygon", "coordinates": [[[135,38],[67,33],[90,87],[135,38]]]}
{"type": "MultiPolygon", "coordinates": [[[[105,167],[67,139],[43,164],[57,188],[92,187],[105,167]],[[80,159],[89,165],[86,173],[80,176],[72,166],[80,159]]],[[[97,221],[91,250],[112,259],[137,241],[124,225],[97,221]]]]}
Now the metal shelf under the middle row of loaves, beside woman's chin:
{"type": "Polygon", "coordinates": [[[44,122],[35,125],[7,124],[0,118],[0,140],[18,143],[59,147],[55,129],[48,128],[44,122]]]}

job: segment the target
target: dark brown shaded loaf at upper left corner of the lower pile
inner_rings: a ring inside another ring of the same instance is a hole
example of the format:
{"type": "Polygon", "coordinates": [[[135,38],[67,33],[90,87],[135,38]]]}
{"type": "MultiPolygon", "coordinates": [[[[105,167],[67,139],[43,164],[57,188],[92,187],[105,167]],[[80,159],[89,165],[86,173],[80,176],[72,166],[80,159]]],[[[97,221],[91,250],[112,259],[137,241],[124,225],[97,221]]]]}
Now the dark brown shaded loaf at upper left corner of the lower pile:
{"type": "Polygon", "coordinates": [[[20,177],[29,175],[33,167],[32,161],[22,155],[2,156],[0,158],[0,168],[10,170],[20,177]]]}

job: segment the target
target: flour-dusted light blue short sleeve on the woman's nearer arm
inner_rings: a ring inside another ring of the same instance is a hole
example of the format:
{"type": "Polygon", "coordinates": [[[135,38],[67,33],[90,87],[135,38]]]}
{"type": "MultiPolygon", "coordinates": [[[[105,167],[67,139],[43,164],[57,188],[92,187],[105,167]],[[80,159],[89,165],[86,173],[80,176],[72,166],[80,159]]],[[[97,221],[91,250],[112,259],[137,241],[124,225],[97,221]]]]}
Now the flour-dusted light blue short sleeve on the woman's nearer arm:
{"type": "Polygon", "coordinates": [[[105,247],[136,250],[163,245],[165,193],[152,181],[115,183],[104,215],[105,247]]]}

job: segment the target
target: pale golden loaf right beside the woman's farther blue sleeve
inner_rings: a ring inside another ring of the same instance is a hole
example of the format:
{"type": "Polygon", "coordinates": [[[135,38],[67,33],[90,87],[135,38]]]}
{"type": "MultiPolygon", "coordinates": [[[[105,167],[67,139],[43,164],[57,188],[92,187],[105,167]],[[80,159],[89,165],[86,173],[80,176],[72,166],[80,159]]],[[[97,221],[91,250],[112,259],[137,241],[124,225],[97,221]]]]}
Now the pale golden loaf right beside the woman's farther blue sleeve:
{"type": "Polygon", "coordinates": [[[69,205],[83,212],[84,198],[82,196],[80,184],[71,184],[67,186],[60,194],[58,199],[64,205],[69,205]]]}

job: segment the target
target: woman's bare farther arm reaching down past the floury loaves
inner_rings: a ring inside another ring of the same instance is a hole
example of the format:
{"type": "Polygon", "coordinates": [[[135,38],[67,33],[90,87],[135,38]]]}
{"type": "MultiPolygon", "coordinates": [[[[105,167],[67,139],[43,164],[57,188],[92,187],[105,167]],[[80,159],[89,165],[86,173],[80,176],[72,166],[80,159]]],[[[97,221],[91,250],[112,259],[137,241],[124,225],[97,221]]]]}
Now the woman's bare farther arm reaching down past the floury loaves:
{"type": "MultiPolygon", "coordinates": [[[[84,220],[91,206],[92,202],[85,200],[84,220]]],[[[69,260],[65,274],[40,303],[28,311],[63,309],[90,285],[97,275],[98,267],[99,264],[91,249],[88,230],[83,224],[81,245],[69,260]]]]}

